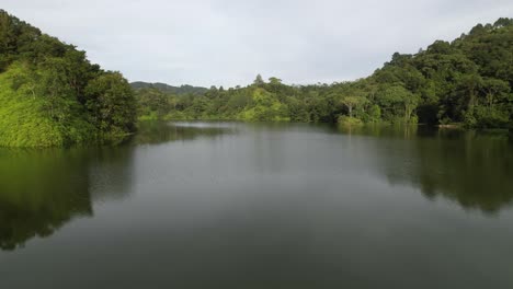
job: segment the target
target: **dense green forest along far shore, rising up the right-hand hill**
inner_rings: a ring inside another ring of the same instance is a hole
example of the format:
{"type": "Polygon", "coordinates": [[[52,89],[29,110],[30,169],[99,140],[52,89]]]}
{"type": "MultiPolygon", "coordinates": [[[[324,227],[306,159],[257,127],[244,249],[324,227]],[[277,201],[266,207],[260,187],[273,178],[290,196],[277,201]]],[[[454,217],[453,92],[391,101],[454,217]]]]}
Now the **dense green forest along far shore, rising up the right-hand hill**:
{"type": "Polygon", "coordinates": [[[396,53],[371,77],[286,85],[258,76],[248,86],[176,94],[137,90],[140,119],[240,119],[505,128],[513,112],[513,19],[477,25],[452,43],[396,53]]]}

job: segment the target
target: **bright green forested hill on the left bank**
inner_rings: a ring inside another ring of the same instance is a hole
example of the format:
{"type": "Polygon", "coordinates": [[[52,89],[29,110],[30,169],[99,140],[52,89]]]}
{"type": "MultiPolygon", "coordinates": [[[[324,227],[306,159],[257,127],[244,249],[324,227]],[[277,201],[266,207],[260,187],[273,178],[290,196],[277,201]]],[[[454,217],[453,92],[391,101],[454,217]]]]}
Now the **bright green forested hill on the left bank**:
{"type": "Polygon", "coordinates": [[[135,128],[135,111],[121,73],[0,10],[0,146],[122,138],[135,128]]]}

